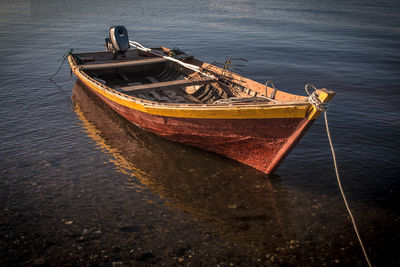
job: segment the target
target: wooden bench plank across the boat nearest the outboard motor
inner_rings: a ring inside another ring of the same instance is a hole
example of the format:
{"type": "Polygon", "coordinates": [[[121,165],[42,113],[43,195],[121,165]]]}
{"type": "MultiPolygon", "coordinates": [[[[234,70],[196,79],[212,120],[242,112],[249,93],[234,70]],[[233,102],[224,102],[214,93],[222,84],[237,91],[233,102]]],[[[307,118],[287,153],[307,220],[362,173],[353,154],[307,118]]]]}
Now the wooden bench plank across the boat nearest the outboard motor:
{"type": "Polygon", "coordinates": [[[111,69],[111,68],[120,68],[120,67],[132,67],[132,66],[143,66],[149,64],[157,64],[168,62],[168,59],[155,57],[155,58],[146,58],[146,59],[135,59],[135,60],[127,60],[127,61],[113,61],[106,63],[97,63],[97,64],[84,64],[79,65],[79,68],[82,70],[99,70],[99,69],[111,69]]]}

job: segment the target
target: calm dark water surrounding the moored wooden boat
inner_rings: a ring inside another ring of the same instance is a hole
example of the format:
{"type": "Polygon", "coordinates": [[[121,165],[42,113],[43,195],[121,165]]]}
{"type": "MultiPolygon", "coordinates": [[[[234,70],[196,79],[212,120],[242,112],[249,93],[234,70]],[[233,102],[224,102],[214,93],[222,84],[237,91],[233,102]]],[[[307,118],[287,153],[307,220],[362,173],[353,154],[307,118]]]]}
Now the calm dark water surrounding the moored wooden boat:
{"type": "Polygon", "coordinates": [[[148,46],[304,94],[328,112],[347,197],[370,259],[400,264],[400,5],[397,1],[2,1],[0,263],[365,265],[320,118],[263,174],[129,125],[88,94],[69,49],[103,50],[112,25],[148,46]]]}

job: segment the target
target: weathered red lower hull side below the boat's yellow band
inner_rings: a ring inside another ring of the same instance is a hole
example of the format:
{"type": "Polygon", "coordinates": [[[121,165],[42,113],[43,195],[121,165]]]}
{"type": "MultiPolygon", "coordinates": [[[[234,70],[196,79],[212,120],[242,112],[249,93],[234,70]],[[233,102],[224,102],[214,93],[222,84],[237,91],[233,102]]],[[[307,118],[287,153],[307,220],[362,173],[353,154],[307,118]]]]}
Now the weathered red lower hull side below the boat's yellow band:
{"type": "Polygon", "coordinates": [[[92,91],[121,116],[149,132],[224,155],[267,174],[279,167],[314,121],[164,117],[127,108],[92,91]]]}

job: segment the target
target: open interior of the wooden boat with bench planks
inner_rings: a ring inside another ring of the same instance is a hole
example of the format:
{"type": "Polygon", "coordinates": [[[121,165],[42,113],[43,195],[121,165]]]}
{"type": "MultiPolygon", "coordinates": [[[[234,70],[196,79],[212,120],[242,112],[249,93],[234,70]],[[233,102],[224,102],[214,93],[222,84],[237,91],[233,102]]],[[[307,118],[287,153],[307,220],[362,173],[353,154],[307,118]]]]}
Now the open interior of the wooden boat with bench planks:
{"type": "MultiPolygon", "coordinates": [[[[163,53],[168,51],[165,48],[154,50],[163,53]]],[[[223,72],[221,75],[207,70],[215,77],[210,78],[176,62],[136,49],[128,50],[123,57],[116,57],[108,51],[77,53],[73,56],[78,67],[96,81],[148,101],[187,104],[277,102],[274,100],[275,94],[266,97],[266,93],[246,88],[231,77],[228,79],[223,72]]],[[[203,63],[185,53],[174,58],[198,66],[203,63]]]]}

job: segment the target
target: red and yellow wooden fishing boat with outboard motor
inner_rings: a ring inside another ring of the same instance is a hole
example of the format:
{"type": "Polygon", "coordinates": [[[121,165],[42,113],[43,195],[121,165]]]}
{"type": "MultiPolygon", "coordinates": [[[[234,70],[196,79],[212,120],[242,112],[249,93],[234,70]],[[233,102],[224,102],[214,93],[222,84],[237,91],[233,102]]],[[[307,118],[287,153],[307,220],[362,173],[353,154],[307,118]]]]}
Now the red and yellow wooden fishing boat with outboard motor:
{"type": "Polygon", "coordinates": [[[308,96],[243,77],[225,64],[179,49],[130,41],[110,28],[107,51],[71,53],[72,72],[121,116],[169,140],[273,173],[324,111],[334,92],[306,85],[308,96]],[[309,88],[314,90],[309,92],[309,88]]]}

